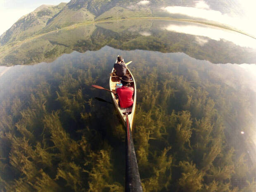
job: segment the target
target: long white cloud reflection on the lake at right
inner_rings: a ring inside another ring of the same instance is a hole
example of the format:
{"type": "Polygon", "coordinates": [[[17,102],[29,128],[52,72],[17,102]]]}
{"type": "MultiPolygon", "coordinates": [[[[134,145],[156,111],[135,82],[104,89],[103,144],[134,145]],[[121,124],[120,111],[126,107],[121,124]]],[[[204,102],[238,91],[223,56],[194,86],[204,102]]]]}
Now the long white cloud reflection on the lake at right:
{"type": "Polygon", "coordinates": [[[204,26],[204,25],[168,25],[164,27],[163,29],[166,29],[168,31],[175,31],[178,33],[186,33],[190,35],[195,36],[203,36],[208,37],[213,40],[228,40],[236,45],[242,46],[242,47],[252,47],[256,49],[256,40],[249,37],[242,35],[240,33],[230,31],[230,30],[224,30],[217,27],[210,27],[210,26],[204,26]]]}

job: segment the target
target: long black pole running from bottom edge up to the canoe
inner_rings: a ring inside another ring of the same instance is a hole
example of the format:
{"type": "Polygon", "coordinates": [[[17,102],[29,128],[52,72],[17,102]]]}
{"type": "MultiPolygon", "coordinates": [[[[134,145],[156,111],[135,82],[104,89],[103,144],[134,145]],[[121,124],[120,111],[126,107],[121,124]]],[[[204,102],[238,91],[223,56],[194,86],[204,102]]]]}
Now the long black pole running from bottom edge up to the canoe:
{"type": "Polygon", "coordinates": [[[140,173],[138,169],[133,136],[130,130],[130,122],[126,113],[126,191],[142,192],[140,173]]]}

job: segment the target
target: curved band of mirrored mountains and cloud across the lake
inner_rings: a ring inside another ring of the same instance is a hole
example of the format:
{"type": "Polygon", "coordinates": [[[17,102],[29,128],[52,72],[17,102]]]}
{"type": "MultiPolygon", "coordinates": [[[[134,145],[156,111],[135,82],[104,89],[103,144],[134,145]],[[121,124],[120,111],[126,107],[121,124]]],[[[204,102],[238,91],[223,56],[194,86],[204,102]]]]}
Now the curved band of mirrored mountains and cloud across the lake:
{"type": "Polygon", "coordinates": [[[64,53],[99,50],[184,52],[212,63],[256,63],[256,40],[234,31],[169,20],[122,20],[63,29],[1,53],[0,64],[52,62],[64,53]]]}

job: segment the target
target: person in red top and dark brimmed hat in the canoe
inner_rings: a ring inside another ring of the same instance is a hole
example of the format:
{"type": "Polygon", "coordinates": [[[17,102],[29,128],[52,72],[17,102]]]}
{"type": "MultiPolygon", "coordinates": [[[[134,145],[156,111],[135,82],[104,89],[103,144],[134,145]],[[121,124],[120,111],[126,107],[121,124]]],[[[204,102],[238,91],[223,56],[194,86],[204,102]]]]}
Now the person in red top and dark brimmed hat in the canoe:
{"type": "Polygon", "coordinates": [[[133,105],[134,89],[132,87],[129,87],[130,82],[133,81],[130,81],[130,77],[128,75],[124,75],[120,79],[123,86],[116,90],[119,98],[119,104],[122,108],[128,108],[133,105]]]}

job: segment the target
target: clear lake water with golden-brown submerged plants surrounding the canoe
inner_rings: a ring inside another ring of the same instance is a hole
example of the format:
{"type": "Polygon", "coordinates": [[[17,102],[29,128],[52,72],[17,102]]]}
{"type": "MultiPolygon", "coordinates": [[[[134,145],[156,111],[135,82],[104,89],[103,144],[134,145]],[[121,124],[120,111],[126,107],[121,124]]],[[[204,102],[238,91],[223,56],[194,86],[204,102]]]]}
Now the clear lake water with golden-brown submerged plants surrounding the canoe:
{"type": "Polygon", "coordinates": [[[117,52],[133,60],[144,191],[252,192],[256,95],[235,69],[110,47],[0,77],[0,191],[124,191],[125,129],[111,104],[94,99],[109,93],[91,88],[107,88],[117,52]]]}

